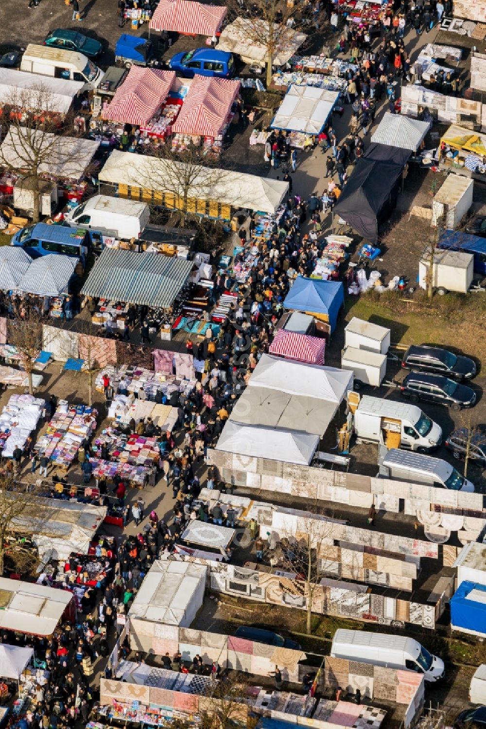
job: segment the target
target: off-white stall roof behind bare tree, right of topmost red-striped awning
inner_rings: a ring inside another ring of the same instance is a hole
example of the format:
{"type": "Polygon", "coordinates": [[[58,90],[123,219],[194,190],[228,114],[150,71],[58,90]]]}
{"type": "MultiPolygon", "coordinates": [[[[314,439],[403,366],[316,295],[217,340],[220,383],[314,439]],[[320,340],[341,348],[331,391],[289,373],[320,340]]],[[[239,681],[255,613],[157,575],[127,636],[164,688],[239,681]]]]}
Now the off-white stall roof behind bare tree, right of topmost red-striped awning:
{"type": "MultiPolygon", "coordinates": [[[[267,20],[237,17],[221,33],[217,50],[237,53],[247,63],[258,63],[259,66],[265,66],[268,55],[268,43],[265,41],[269,36],[270,28],[267,20]],[[262,41],[260,42],[259,39],[262,41]]],[[[284,66],[297,52],[298,47],[304,43],[307,36],[294,31],[293,28],[277,26],[274,28],[274,38],[277,39],[277,42],[273,65],[284,66]]]]}

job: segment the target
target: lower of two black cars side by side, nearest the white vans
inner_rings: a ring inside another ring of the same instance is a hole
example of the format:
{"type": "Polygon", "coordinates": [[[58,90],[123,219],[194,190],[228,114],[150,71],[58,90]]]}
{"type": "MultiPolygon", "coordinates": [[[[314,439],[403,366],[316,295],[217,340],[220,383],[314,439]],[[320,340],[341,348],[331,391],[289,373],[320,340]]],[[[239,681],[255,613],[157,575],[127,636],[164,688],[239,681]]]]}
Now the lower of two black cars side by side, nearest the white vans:
{"type": "Polygon", "coordinates": [[[439,405],[447,405],[452,410],[472,408],[476,402],[476,393],[466,385],[442,375],[425,375],[410,373],[401,383],[401,394],[413,402],[429,400],[439,405]]]}

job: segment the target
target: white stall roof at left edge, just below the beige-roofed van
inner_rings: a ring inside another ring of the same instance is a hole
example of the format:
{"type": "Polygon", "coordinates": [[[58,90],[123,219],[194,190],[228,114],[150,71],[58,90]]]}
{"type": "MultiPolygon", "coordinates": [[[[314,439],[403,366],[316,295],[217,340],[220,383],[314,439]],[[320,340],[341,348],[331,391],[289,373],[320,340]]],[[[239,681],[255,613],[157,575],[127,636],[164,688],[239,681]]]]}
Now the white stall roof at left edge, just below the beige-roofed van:
{"type": "Polygon", "coordinates": [[[0,68],[0,106],[12,104],[52,114],[67,114],[82,81],[53,79],[27,71],[0,68]]]}

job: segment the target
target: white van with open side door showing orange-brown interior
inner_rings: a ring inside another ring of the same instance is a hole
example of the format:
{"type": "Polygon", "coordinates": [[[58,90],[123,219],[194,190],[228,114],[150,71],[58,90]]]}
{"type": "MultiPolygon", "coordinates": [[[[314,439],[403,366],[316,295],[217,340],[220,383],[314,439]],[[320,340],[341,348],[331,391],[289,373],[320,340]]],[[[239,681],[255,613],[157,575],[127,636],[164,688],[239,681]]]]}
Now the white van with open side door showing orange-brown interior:
{"type": "Polygon", "coordinates": [[[442,442],[442,429],[417,405],[363,395],[354,413],[358,443],[428,453],[442,442]]]}

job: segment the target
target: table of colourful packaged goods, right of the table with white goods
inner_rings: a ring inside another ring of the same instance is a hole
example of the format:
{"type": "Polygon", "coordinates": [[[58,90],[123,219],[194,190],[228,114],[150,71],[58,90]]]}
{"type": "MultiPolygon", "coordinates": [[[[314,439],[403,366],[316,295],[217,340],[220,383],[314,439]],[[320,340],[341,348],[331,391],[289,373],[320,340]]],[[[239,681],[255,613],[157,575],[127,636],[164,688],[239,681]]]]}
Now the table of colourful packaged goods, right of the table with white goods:
{"type": "Polygon", "coordinates": [[[66,470],[77,456],[82,441],[96,429],[97,411],[88,405],[69,405],[60,400],[47,432],[37,440],[34,451],[47,456],[57,469],[66,470]]]}

